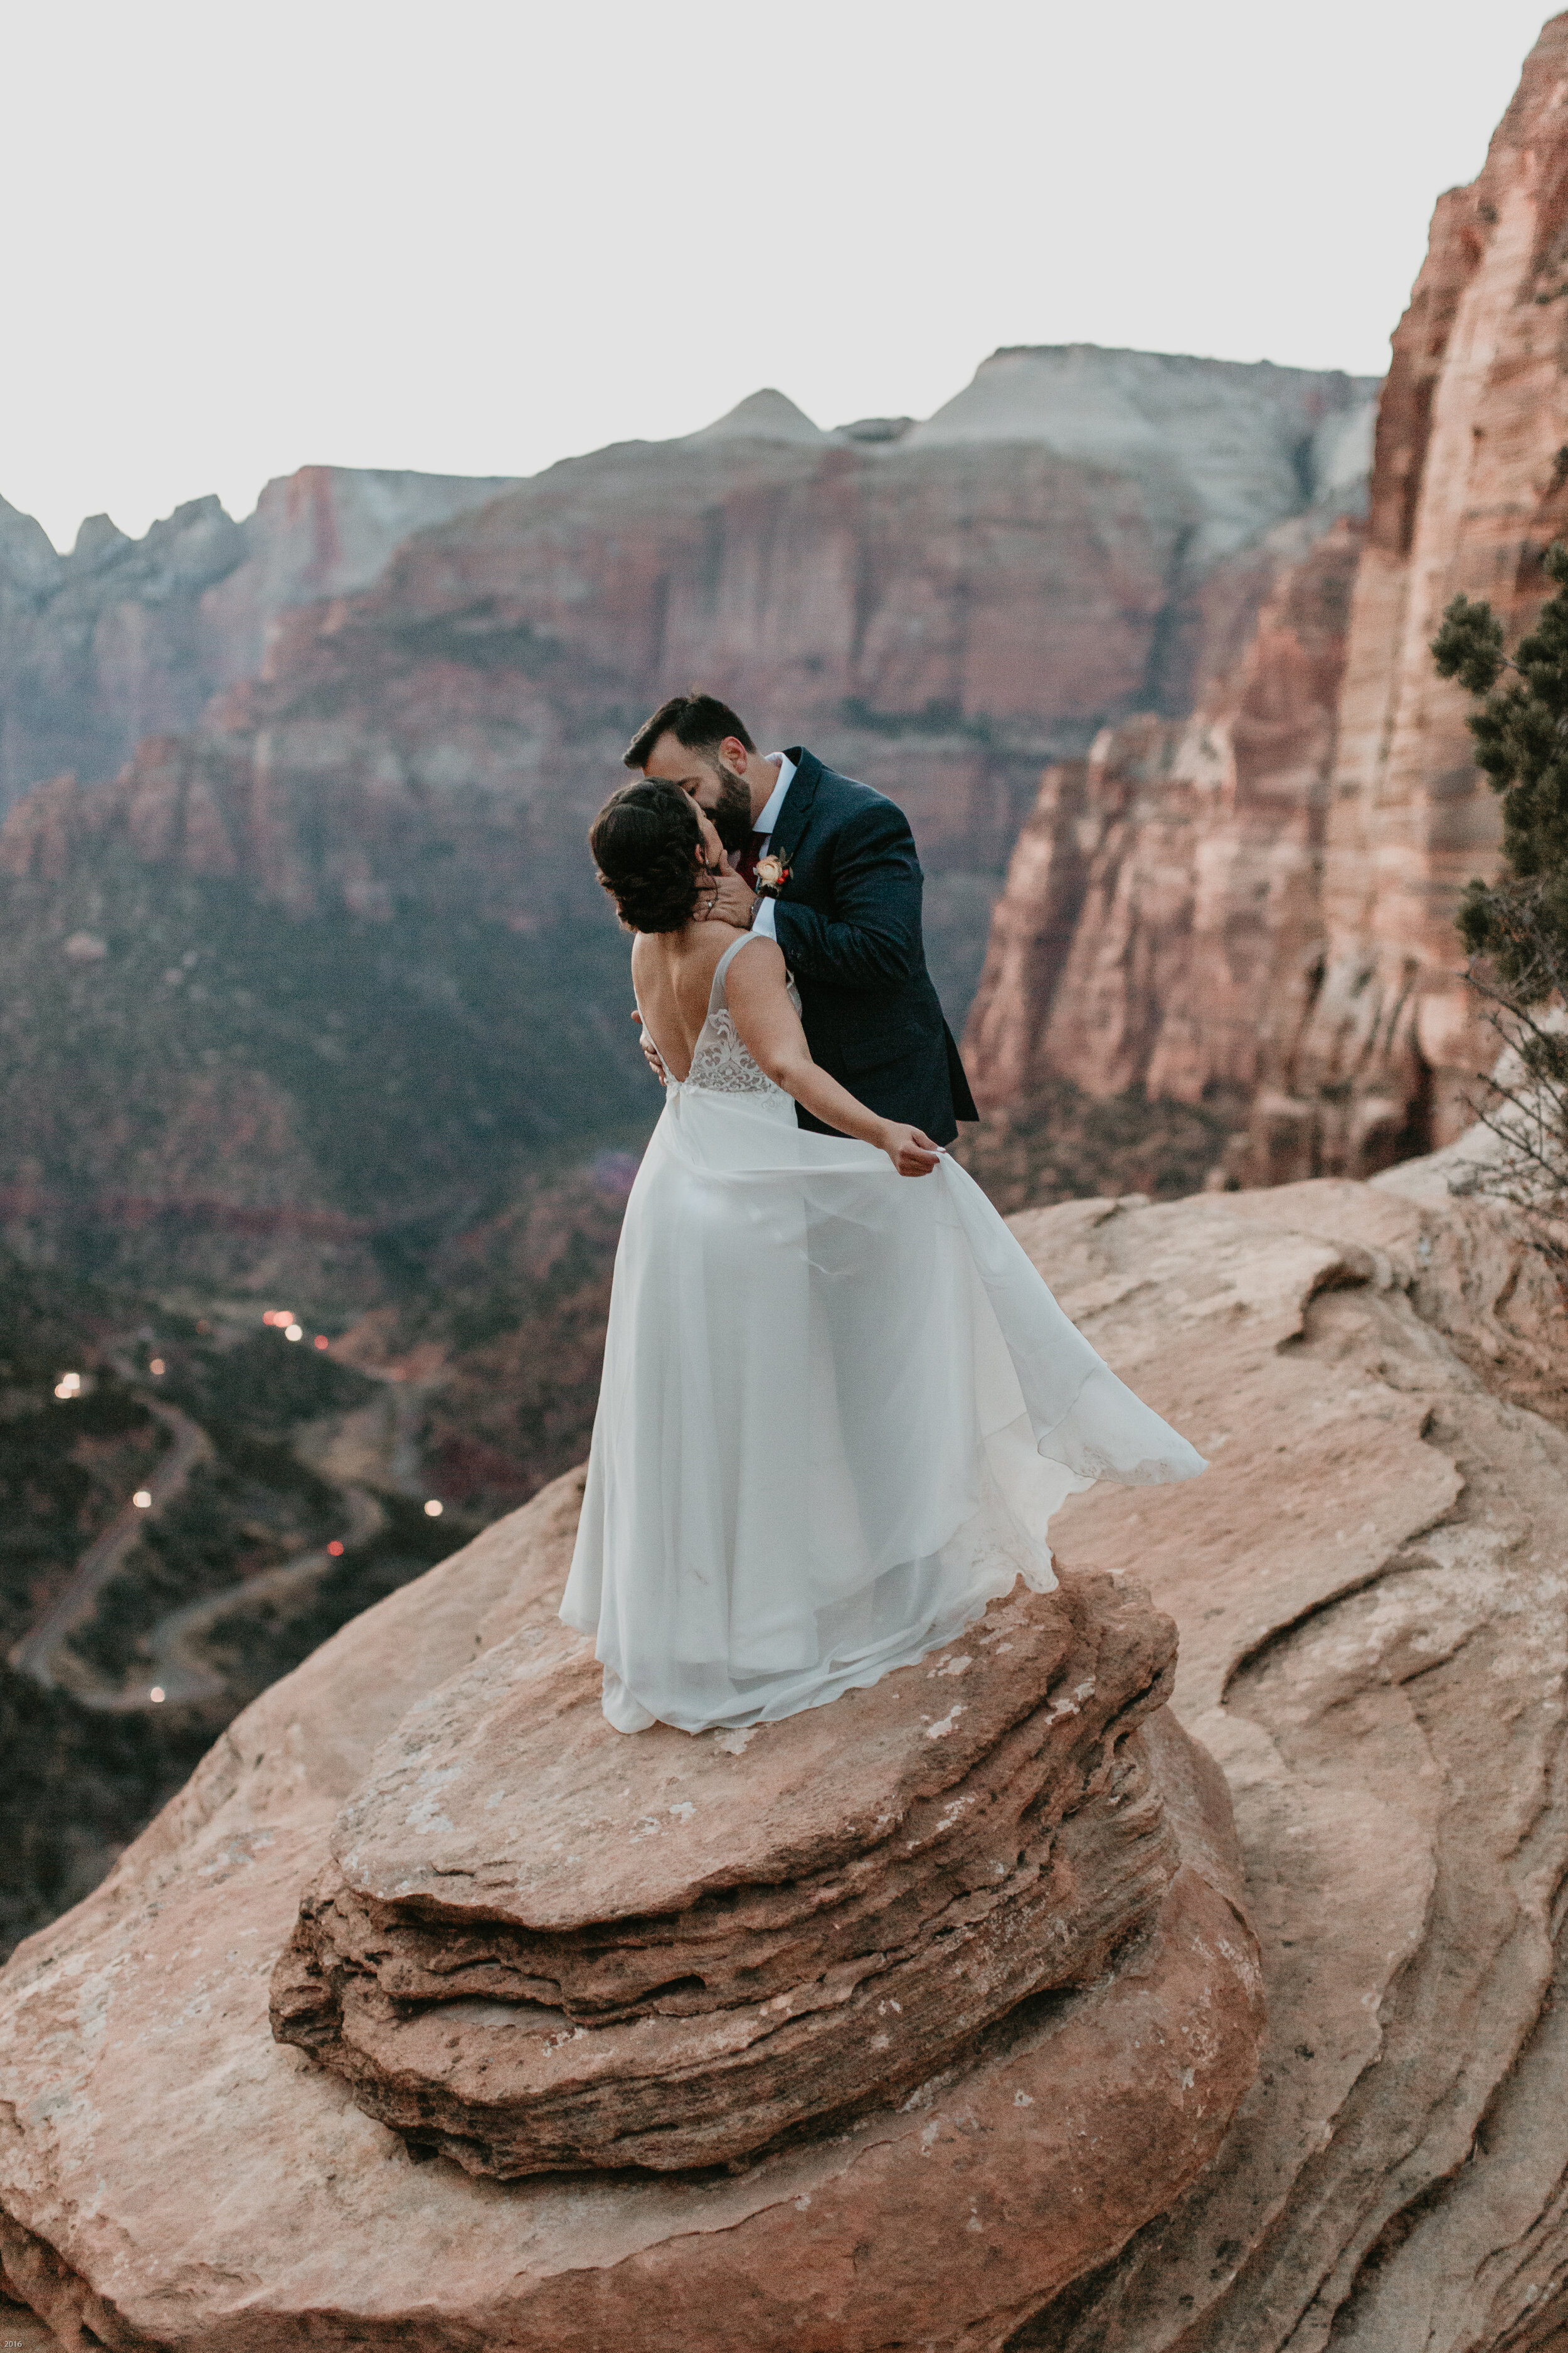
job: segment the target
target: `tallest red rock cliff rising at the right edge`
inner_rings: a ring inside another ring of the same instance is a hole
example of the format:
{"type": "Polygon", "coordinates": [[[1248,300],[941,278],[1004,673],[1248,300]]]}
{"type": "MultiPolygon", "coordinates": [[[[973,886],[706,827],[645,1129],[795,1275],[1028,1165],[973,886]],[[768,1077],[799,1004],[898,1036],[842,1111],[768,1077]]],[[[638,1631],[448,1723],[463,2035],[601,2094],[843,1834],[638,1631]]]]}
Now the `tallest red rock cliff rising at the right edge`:
{"type": "Polygon", "coordinates": [[[1490,1056],[1453,915],[1497,802],[1429,642],[1460,591],[1514,635],[1568,534],[1568,14],[1469,188],[1441,198],[1378,416],[1324,838],[1321,981],[1253,1118],[1251,1174],[1363,1172],[1443,1144],[1490,1056]]]}

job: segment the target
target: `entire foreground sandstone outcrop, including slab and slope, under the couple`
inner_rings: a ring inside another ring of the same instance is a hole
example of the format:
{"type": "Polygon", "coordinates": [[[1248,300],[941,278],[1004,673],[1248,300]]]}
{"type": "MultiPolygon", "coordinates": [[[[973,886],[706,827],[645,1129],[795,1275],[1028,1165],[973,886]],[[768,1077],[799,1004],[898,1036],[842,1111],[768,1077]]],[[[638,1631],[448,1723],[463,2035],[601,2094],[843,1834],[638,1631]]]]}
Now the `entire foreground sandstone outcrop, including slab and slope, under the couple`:
{"type": "Polygon", "coordinates": [[[1018,1233],[1211,1473],[698,1741],[595,1720],[559,1480],[0,1974],[5,2294],[118,2353],[1561,2341],[1556,1292],[1420,1167],[1018,1233]]]}

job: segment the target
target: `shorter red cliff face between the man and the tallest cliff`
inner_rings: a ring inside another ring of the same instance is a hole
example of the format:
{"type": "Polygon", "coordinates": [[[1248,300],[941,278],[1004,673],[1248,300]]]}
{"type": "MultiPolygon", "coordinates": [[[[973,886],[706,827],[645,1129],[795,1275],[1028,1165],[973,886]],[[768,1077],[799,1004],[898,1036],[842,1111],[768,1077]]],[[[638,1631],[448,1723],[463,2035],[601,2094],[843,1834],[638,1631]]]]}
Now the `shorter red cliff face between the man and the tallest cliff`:
{"type": "Polygon", "coordinates": [[[1345,520],[1279,534],[1255,635],[1190,720],[1046,769],[964,1042],[983,1111],[1048,1080],[1244,1106],[1302,1014],[1349,591],[1345,520]]]}

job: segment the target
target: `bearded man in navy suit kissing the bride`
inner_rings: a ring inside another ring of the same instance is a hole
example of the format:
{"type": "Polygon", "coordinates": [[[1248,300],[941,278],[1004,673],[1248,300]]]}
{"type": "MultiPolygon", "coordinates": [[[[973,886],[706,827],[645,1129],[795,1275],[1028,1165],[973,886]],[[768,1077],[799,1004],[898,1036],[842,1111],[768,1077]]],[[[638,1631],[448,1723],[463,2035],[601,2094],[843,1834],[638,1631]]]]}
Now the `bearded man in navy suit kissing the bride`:
{"type": "MultiPolygon", "coordinates": [[[[813,1061],[867,1111],[936,1144],[978,1120],[926,972],[922,873],[903,809],[802,746],[759,753],[715,694],[661,704],[625,765],[708,809],[731,856],[708,915],[778,941],[813,1061]]],[[[809,1111],[795,1115],[832,1134],[809,1111]]]]}

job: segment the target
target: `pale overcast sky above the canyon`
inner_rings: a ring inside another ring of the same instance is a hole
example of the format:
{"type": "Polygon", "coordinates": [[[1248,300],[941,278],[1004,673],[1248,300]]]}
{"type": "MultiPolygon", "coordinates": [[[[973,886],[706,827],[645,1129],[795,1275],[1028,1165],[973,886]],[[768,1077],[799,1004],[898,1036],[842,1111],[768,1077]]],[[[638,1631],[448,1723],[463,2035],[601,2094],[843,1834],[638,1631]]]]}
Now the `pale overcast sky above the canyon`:
{"type": "Polygon", "coordinates": [[[0,0],[0,494],[531,473],[999,344],[1380,372],[1540,0],[0,0]]]}

